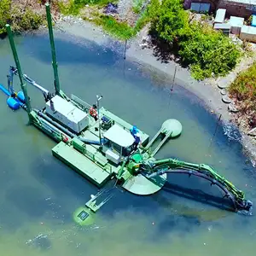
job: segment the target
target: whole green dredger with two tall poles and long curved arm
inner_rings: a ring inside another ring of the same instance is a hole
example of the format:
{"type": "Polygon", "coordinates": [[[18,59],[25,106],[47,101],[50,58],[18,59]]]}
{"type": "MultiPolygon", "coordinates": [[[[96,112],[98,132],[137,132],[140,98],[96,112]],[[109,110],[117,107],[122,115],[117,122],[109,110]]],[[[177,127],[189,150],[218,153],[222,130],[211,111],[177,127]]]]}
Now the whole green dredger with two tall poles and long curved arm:
{"type": "MultiPolygon", "coordinates": [[[[182,125],[177,120],[166,120],[160,131],[149,141],[148,135],[143,131],[128,124],[107,109],[99,108],[102,96],[97,96],[96,106],[92,107],[79,97],[73,95],[68,97],[60,90],[49,4],[46,3],[45,6],[55,74],[55,94],[49,93],[48,90],[22,73],[9,25],[6,25],[6,28],[16,67],[10,67],[8,90],[2,85],[0,89],[9,96],[10,108],[17,109],[21,106],[26,109],[30,123],[57,142],[52,148],[52,154],[98,188],[104,187],[110,179],[115,178],[115,186],[120,185],[136,195],[151,195],[159,191],[165,185],[169,172],[202,177],[207,179],[211,185],[218,186],[224,191],[224,197],[229,198],[233,203],[234,211],[251,212],[253,203],[247,201],[241,190],[236,189],[212,167],[176,159],[156,160],[154,158],[169,138],[180,135],[182,125]],[[22,89],[17,94],[12,85],[14,74],[19,75],[22,89]],[[24,80],[44,94],[46,102],[44,108],[38,110],[31,107],[24,80]],[[138,137],[140,143],[137,145],[135,142],[138,137]],[[160,137],[160,143],[155,146],[160,137]]],[[[104,189],[100,190],[97,195],[91,196],[85,207],[74,212],[73,217],[76,222],[90,223],[90,213],[96,212],[111,198],[111,195],[108,195],[97,204],[96,201],[104,194],[103,192],[104,189]]]]}

